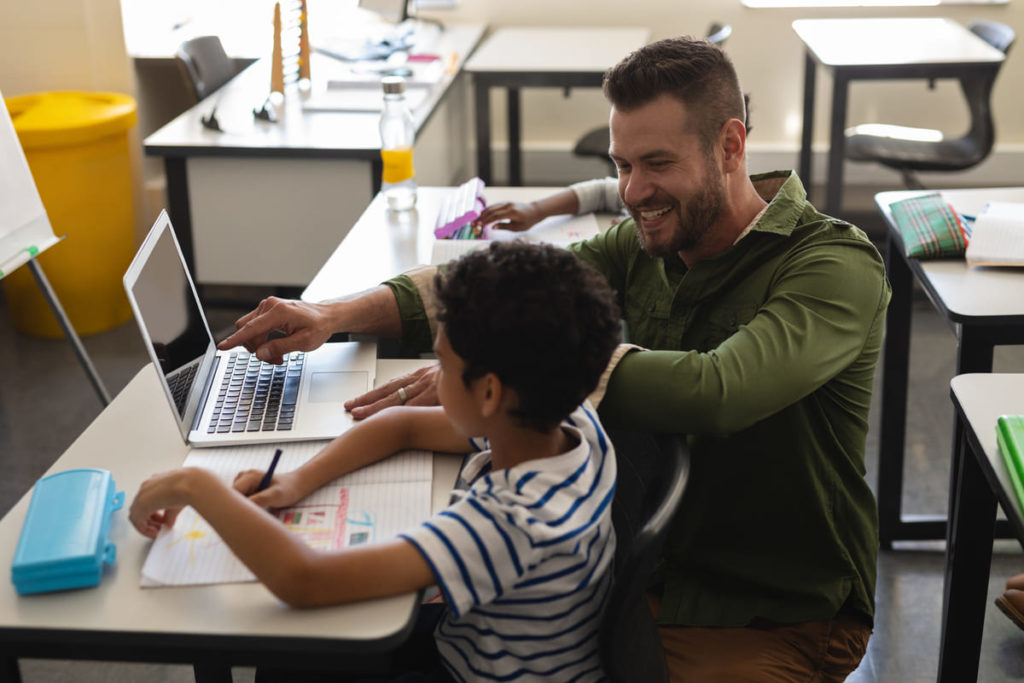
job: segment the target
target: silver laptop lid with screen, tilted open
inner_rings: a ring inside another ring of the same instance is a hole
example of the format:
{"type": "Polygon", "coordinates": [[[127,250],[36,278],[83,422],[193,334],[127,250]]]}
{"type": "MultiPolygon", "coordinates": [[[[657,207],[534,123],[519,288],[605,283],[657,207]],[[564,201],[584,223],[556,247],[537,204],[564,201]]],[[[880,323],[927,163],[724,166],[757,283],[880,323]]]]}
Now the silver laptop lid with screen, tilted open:
{"type": "Polygon", "coordinates": [[[128,266],[124,285],[181,438],[187,442],[217,347],[166,211],[160,212],[128,266]]]}

